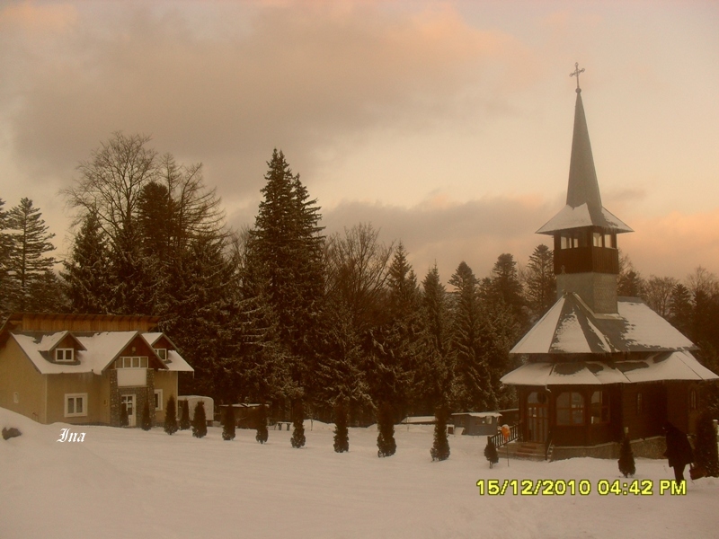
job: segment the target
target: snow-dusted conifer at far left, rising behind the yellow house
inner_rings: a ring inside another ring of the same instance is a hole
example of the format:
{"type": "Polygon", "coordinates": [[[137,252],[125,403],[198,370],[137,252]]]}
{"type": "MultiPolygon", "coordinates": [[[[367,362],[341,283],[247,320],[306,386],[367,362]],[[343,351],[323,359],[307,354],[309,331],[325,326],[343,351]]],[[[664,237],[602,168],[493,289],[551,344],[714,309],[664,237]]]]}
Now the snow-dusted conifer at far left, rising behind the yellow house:
{"type": "Polygon", "coordinates": [[[8,212],[7,225],[13,231],[9,236],[7,265],[11,277],[8,285],[12,310],[57,311],[59,287],[53,285],[57,281],[52,273],[55,259],[47,256],[55,249],[50,243],[55,234],[48,232],[49,226],[45,225],[40,208],[33,207],[31,199],[21,199],[20,204],[8,212]]]}

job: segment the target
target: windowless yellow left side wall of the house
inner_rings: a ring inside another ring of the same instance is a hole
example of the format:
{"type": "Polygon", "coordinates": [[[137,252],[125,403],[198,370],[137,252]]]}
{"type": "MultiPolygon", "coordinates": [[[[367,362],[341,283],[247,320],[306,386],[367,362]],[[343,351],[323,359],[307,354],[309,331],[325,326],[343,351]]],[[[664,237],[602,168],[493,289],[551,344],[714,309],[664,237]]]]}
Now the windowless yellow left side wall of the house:
{"type": "Polygon", "coordinates": [[[45,423],[44,389],[44,376],[17,342],[8,339],[0,349],[0,406],[45,423]],[[15,392],[19,402],[14,402],[15,392]]]}

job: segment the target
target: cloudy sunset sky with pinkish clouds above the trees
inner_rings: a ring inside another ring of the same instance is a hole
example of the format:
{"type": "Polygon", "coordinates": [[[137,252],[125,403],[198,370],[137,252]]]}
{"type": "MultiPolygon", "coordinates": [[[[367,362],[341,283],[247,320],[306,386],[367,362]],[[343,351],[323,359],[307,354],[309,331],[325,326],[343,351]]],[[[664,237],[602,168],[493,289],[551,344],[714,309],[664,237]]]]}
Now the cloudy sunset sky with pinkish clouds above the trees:
{"type": "Polygon", "coordinates": [[[644,276],[719,274],[719,3],[0,2],[0,198],[58,191],[114,131],[203,163],[252,225],[280,148],[328,233],[422,278],[521,263],[564,206],[575,79],[604,206],[644,276]]]}

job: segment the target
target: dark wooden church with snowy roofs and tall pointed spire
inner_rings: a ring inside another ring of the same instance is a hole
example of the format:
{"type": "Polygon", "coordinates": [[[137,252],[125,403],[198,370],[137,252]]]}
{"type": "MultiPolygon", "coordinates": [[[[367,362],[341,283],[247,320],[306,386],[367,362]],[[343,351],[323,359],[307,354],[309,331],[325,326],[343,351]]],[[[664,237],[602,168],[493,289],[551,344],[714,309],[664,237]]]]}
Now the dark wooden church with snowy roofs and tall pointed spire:
{"type": "Polygon", "coordinates": [[[602,206],[575,66],[577,98],[566,205],[537,234],[554,238],[557,300],[510,350],[502,377],[519,399],[519,436],[552,458],[661,456],[669,420],[693,432],[698,385],[719,378],[696,345],[636,297],[617,296],[617,238],[633,230],[602,206]]]}

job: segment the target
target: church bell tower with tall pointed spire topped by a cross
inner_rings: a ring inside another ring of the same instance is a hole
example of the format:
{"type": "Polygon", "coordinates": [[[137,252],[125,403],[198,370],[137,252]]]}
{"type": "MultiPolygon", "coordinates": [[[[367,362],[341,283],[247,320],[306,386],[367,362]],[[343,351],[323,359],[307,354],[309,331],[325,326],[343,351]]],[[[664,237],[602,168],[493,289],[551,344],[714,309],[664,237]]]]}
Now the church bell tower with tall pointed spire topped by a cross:
{"type": "Polygon", "coordinates": [[[555,238],[557,297],[576,293],[596,314],[617,313],[617,234],[634,232],[601,204],[590,135],[581,102],[578,64],[567,203],[537,234],[555,238]]]}

